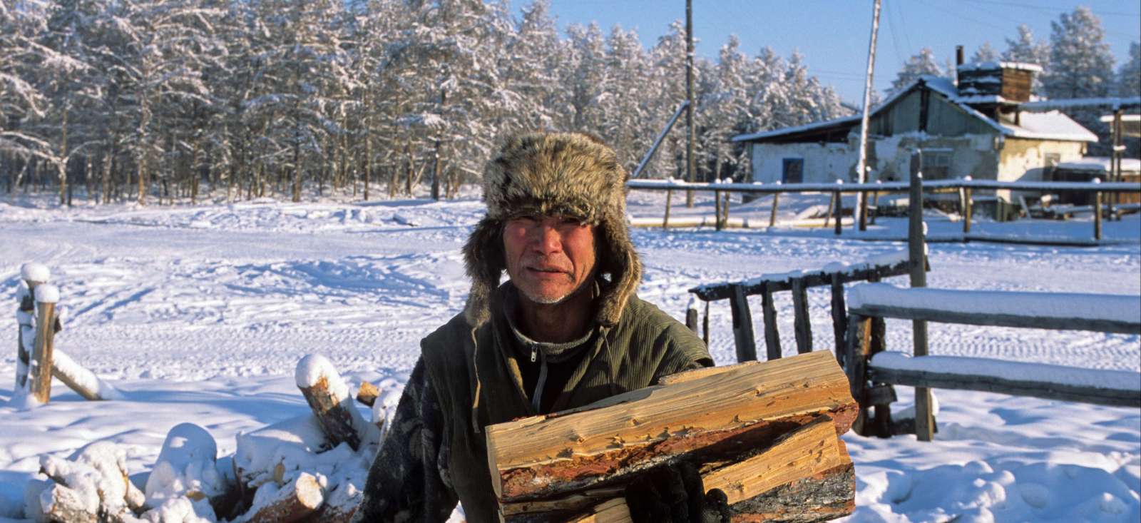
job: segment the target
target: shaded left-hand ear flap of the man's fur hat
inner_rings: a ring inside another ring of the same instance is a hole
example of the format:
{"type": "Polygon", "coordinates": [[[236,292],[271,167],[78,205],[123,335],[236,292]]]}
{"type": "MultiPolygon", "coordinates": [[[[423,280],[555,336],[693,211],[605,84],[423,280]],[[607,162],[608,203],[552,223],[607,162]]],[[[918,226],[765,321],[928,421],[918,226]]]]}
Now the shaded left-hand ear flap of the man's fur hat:
{"type": "Polygon", "coordinates": [[[492,292],[499,287],[500,275],[507,263],[503,259],[503,234],[499,220],[484,218],[476,225],[463,246],[463,265],[471,280],[471,292],[463,308],[463,317],[471,327],[479,327],[491,319],[492,292]]]}

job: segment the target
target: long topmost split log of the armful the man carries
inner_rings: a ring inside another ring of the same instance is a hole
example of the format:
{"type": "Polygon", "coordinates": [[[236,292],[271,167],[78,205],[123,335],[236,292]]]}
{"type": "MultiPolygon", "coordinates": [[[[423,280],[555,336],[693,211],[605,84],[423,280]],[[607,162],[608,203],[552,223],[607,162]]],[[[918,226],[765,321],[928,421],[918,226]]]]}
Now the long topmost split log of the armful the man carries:
{"type": "Polygon", "coordinates": [[[682,457],[737,459],[819,415],[843,434],[856,413],[835,359],[816,352],[493,425],[487,457],[496,497],[517,502],[621,483],[682,457]]]}

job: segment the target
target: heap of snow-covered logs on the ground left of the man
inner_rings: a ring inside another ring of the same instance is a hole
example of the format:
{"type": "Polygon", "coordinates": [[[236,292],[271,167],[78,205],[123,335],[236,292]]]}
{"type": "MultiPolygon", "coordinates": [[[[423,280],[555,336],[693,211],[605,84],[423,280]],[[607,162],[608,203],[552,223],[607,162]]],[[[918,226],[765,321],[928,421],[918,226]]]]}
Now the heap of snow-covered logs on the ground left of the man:
{"type": "Polygon", "coordinates": [[[141,488],[128,478],[126,450],[111,442],[67,459],[42,457],[47,480],[29,483],[25,516],[64,523],[347,523],[399,384],[380,384],[377,421],[370,423],[324,357],[301,360],[296,378],[313,412],[240,434],[235,453],[222,458],[208,431],[177,425],[141,488]]]}

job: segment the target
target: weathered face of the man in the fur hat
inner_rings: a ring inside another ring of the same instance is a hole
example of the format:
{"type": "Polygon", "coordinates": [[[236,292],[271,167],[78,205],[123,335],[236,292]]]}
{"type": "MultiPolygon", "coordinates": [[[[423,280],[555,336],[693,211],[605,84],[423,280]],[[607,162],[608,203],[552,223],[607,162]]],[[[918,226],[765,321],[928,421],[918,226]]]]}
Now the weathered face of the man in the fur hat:
{"type": "Polygon", "coordinates": [[[594,269],[594,226],[560,216],[520,216],[503,226],[511,282],[527,299],[557,304],[594,269]]]}

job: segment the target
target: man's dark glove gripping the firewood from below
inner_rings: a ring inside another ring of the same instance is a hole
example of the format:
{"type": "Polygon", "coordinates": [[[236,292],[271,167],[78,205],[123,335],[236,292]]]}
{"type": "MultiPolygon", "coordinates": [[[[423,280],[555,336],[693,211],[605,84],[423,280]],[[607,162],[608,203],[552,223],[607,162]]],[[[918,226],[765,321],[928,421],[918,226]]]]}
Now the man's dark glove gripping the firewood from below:
{"type": "Polygon", "coordinates": [[[729,523],[728,498],[720,489],[705,492],[697,467],[682,461],[657,467],[626,485],[626,506],[634,523],[729,523]]]}

